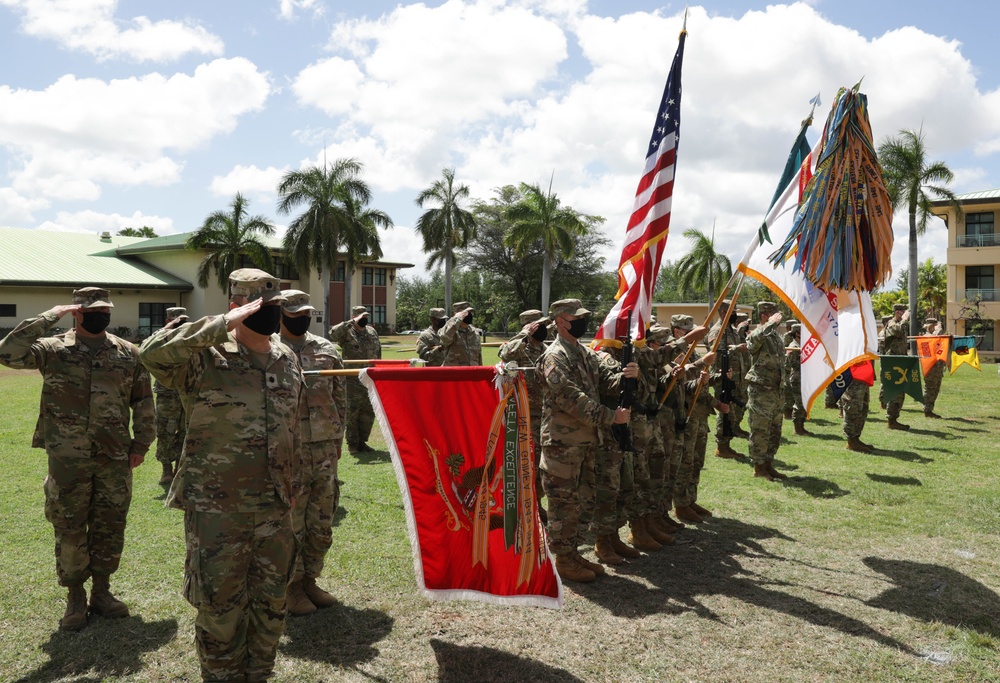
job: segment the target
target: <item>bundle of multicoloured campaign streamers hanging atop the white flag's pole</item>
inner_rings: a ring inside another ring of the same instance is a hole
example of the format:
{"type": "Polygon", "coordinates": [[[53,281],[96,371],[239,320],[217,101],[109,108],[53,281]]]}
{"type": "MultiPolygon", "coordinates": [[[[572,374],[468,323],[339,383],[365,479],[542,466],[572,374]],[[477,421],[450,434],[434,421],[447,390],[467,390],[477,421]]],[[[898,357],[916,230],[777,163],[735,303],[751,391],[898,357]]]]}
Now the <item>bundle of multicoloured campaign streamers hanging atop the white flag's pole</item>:
{"type": "Polygon", "coordinates": [[[768,260],[795,268],[824,290],[872,291],[892,274],[892,203],[872,145],[868,98],[841,88],[795,222],[768,260]]]}

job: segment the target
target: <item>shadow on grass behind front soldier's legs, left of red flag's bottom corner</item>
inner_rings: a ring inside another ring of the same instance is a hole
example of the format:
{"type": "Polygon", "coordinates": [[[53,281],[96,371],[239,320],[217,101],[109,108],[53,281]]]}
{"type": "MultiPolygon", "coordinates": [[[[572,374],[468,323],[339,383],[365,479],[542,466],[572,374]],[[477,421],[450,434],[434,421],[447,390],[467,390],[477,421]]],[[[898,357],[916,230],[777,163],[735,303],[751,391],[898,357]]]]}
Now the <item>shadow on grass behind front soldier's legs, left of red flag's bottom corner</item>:
{"type": "Polygon", "coordinates": [[[308,617],[289,617],[278,649],[294,659],[349,668],[378,657],[375,643],[389,635],[393,621],[385,612],[338,602],[308,617]]]}

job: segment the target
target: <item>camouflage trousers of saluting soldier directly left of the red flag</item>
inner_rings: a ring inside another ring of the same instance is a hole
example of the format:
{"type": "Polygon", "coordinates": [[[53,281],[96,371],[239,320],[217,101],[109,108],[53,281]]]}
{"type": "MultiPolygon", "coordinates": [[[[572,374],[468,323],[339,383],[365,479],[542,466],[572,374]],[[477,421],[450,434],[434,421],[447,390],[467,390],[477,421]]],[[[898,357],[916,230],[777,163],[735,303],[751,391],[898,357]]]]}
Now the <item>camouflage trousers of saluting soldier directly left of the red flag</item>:
{"type": "Polygon", "coordinates": [[[337,464],[341,442],[302,444],[302,490],[292,510],[292,529],[298,542],[294,580],[315,579],[323,573],[323,561],[333,545],[333,516],[340,503],[337,464]]]}

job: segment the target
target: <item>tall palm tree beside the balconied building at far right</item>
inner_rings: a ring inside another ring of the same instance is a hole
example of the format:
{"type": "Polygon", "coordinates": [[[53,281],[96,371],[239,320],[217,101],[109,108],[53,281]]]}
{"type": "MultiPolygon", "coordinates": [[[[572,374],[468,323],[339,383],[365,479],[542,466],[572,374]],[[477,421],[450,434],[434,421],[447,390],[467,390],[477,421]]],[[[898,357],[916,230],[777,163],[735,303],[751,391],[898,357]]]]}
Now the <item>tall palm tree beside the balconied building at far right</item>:
{"type": "Polygon", "coordinates": [[[917,237],[927,230],[931,217],[931,202],[947,200],[960,219],[962,207],[955,193],[938,183],[954,179],[951,169],[943,161],[928,163],[923,130],[901,130],[894,138],[886,138],[878,147],[886,189],[894,207],[905,204],[910,216],[910,263],[908,297],[910,304],[910,336],[919,333],[917,237]]]}

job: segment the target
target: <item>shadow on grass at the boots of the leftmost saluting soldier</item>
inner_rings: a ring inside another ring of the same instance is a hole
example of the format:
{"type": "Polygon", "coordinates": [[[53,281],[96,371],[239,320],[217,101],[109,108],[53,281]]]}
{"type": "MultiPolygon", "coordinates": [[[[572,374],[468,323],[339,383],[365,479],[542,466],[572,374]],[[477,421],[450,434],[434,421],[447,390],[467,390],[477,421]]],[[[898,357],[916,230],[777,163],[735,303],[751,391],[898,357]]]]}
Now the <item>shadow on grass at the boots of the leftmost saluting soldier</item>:
{"type": "Polygon", "coordinates": [[[17,683],[50,683],[71,677],[74,683],[98,683],[130,676],[142,671],[144,655],[159,650],[176,636],[176,619],[146,623],[142,617],[92,616],[80,631],[53,633],[42,645],[49,661],[17,683]]]}

